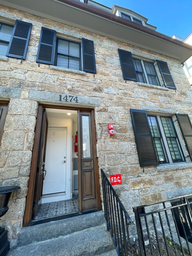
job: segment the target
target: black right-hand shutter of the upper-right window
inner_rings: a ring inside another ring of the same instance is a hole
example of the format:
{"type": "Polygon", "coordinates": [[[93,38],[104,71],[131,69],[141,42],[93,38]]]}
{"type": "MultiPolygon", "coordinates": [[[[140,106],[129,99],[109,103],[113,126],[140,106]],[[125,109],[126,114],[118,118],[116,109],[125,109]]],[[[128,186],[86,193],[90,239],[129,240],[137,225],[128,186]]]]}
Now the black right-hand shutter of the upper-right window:
{"type": "Polygon", "coordinates": [[[161,72],[161,76],[162,76],[163,82],[165,84],[165,87],[168,87],[171,89],[176,89],[175,83],[173,81],[173,77],[170,74],[168,63],[166,63],[164,61],[157,60],[157,64],[158,64],[159,70],[161,72]]]}

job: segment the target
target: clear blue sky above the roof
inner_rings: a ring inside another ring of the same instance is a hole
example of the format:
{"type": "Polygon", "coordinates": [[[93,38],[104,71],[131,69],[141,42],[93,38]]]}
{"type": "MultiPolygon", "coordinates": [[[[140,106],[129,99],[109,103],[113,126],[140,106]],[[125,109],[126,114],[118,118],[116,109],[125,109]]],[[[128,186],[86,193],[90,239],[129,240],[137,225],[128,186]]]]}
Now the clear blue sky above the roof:
{"type": "Polygon", "coordinates": [[[172,37],[174,34],[185,38],[192,31],[191,0],[94,0],[108,7],[120,5],[148,18],[148,23],[157,31],[172,37]]]}

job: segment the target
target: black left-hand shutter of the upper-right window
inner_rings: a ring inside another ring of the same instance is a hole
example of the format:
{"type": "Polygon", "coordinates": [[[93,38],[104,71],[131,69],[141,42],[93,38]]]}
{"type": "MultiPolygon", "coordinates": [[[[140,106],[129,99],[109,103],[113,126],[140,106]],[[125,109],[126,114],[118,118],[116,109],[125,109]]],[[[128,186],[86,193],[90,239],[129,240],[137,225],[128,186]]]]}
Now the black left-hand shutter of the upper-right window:
{"type": "Polygon", "coordinates": [[[122,49],[118,49],[118,52],[120,65],[122,66],[123,79],[138,81],[131,52],[122,49]]]}

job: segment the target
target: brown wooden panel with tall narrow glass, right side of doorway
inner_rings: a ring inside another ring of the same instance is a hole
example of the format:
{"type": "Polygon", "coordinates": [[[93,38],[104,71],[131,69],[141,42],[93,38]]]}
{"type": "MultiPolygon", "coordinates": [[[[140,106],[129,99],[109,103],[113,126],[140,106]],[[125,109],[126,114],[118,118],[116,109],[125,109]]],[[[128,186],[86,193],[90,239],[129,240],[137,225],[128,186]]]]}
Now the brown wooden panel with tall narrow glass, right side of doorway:
{"type": "Polygon", "coordinates": [[[79,212],[101,209],[94,111],[78,111],[79,212]]]}

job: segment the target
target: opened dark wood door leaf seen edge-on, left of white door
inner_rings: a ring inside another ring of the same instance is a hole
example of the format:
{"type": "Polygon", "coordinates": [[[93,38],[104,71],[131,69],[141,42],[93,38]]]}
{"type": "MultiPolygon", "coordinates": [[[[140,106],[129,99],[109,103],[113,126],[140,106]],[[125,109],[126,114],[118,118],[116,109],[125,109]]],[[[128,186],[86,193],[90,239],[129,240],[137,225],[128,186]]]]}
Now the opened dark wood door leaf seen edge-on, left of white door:
{"type": "Polygon", "coordinates": [[[41,205],[42,197],[42,186],[44,176],[46,175],[45,170],[45,151],[47,143],[47,129],[48,129],[48,119],[47,113],[44,109],[42,112],[42,123],[41,123],[41,136],[40,136],[40,145],[38,148],[38,160],[37,160],[37,174],[35,182],[35,193],[34,193],[34,202],[33,202],[33,218],[37,215],[38,209],[41,205]]]}

